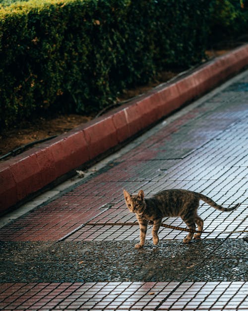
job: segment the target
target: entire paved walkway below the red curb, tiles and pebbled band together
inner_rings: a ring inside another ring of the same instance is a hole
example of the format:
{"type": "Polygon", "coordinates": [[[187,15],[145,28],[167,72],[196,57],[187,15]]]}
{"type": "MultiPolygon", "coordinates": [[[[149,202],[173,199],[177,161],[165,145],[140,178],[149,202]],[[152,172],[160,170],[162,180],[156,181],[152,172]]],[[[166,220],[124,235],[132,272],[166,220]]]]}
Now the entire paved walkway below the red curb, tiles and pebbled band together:
{"type": "Polygon", "coordinates": [[[247,310],[246,233],[221,233],[248,227],[247,142],[248,71],[1,227],[0,310],[247,310]],[[212,233],[185,245],[185,233],[162,228],[154,246],[149,228],[137,250],[137,226],[87,224],[135,221],[123,188],[184,188],[241,205],[201,204],[212,233]]]}

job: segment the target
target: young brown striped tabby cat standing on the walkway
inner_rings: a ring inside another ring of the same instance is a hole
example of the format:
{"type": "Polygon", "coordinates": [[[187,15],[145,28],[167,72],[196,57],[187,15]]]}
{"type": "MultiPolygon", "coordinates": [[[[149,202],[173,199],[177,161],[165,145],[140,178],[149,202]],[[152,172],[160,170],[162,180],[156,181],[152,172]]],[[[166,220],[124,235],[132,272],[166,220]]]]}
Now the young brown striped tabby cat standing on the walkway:
{"type": "MultiPolygon", "coordinates": [[[[203,220],[197,215],[200,200],[221,211],[231,211],[240,206],[238,203],[234,207],[221,207],[200,193],[183,189],[164,190],[148,199],[144,198],[143,190],[140,190],[137,195],[130,195],[125,190],[123,193],[127,208],[136,214],[139,222],[140,242],[135,245],[135,248],[142,248],[145,244],[148,221],[153,223],[153,243],[155,245],[158,244],[158,230],[162,223],[162,218],[166,216],[180,216],[189,229],[195,230],[195,224],[197,224],[198,231],[202,231],[203,220]]],[[[183,239],[183,242],[189,243],[192,237],[200,239],[200,236],[201,233],[194,234],[189,232],[183,239]]]]}

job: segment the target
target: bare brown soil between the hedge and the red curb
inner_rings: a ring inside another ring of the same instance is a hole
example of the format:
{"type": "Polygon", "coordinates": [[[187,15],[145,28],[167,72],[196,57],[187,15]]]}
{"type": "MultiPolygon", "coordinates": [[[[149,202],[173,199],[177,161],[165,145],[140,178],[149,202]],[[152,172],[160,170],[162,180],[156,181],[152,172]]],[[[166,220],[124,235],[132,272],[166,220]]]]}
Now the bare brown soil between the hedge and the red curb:
{"type": "MultiPolygon", "coordinates": [[[[226,50],[207,51],[206,54],[208,57],[212,58],[225,54],[226,52],[226,50]]],[[[117,101],[121,103],[137,95],[143,94],[155,86],[172,79],[178,74],[179,72],[176,70],[162,72],[147,85],[137,87],[135,89],[124,90],[122,96],[118,98],[117,101]]],[[[65,133],[81,123],[88,122],[94,117],[95,116],[85,116],[79,114],[59,115],[54,118],[41,117],[33,120],[32,122],[27,121],[21,125],[14,126],[12,129],[3,130],[0,133],[0,158],[18,147],[22,147],[26,144],[33,143],[50,136],[65,133]]],[[[18,153],[20,153],[20,151],[13,153],[13,156],[18,153]]],[[[7,159],[9,159],[9,156],[0,159],[0,161],[7,159]]]]}

